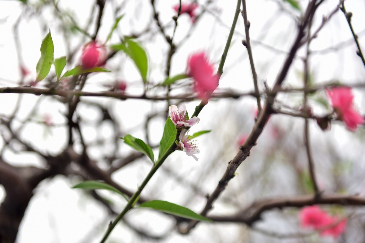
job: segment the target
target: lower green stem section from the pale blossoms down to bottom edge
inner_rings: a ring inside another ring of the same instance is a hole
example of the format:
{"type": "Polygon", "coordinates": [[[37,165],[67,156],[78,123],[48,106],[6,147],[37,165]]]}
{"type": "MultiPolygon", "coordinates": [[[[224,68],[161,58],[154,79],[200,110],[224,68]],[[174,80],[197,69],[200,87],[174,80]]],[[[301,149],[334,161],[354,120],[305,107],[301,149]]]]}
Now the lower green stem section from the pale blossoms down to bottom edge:
{"type": "MultiPolygon", "coordinates": [[[[179,135],[180,132],[178,132],[176,134],[176,139],[175,141],[179,140],[179,135]]],[[[150,172],[148,173],[148,175],[146,176],[145,180],[143,180],[142,184],[139,186],[138,190],[132,195],[132,197],[129,199],[127,205],[124,207],[123,211],[121,213],[119,213],[119,215],[116,217],[116,219],[114,220],[113,223],[109,224],[107,232],[105,232],[105,235],[103,237],[103,239],[101,240],[100,243],[104,243],[105,240],[107,240],[108,236],[110,235],[110,233],[112,232],[112,230],[114,229],[114,227],[118,224],[118,222],[123,218],[123,216],[134,207],[135,202],[138,200],[139,195],[141,195],[141,192],[143,190],[143,188],[145,188],[145,186],[147,185],[147,183],[150,181],[150,179],[152,178],[152,176],[154,175],[154,173],[157,171],[158,168],[160,168],[160,166],[164,163],[164,161],[166,160],[166,158],[172,153],[174,152],[174,150],[176,149],[176,143],[174,142],[170,148],[161,156],[161,158],[158,159],[158,161],[156,162],[156,164],[152,167],[152,169],[150,170],[150,172]]]]}

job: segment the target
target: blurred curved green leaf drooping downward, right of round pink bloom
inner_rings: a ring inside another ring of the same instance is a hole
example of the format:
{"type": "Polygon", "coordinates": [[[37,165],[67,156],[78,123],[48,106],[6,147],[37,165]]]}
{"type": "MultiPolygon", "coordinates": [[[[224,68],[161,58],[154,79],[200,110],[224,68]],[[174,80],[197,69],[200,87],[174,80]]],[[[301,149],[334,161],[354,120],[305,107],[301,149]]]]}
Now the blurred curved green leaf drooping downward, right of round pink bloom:
{"type": "Polygon", "coordinates": [[[137,66],[139,73],[142,76],[143,82],[147,82],[148,60],[146,51],[137,42],[130,39],[126,40],[126,43],[120,43],[111,46],[116,51],[124,51],[137,66]]]}

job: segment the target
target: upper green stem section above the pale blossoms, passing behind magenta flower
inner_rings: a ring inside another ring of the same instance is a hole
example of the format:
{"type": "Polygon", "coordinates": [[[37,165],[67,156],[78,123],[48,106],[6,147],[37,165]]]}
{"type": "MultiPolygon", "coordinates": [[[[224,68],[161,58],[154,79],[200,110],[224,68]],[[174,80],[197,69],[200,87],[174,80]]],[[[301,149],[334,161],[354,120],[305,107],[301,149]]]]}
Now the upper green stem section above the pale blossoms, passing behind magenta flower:
{"type": "MultiPolygon", "coordinates": [[[[220,79],[220,76],[223,74],[224,62],[226,61],[228,49],[229,49],[229,47],[231,45],[232,37],[233,37],[233,34],[234,34],[234,29],[236,27],[238,15],[239,15],[239,11],[241,11],[241,9],[239,9],[239,6],[241,5],[241,1],[242,0],[238,0],[237,1],[236,12],[234,14],[234,19],[233,19],[233,23],[232,23],[232,26],[231,26],[231,30],[230,30],[229,35],[228,35],[228,39],[227,39],[227,42],[226,42],[226,47],[224,47],[224,51],[223,51],[222,57],[220,58],[220,62],[219,62],[219,66],[218,66],[218,71],[217,71],[217,75],[218,75],[219,79],[220,79]]],[[[195,111],[194,111],[194,113],[193,113],[193,115],[191,117],[197,117],[199,115],[200,111],[203,109],[203,107],[205,105],[207,105],[207,103],[205,103],[203,101],[200,102],[200,104],[195,107],[195,111]]]]}

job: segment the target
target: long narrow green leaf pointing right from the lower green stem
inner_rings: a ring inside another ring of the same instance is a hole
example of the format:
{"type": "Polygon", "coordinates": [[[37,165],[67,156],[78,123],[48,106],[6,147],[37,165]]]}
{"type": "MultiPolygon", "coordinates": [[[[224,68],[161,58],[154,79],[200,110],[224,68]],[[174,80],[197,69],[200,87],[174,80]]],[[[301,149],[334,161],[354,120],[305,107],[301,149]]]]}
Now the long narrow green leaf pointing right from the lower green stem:
{"type": "Polygon", "coordinates": [[[148,201],[146,203],[142,203],[137,208],[152,208],[161,212],[183,217],[185,219],[208,221],[208,222],[212,221],[210,219],[207,219],[206,217],[197,214],[194,211],[191,211],[189,208],[185,208],[183,206],[174,203],[169,203],[167,201],[160,201],[160,200],[148,201]]]}

